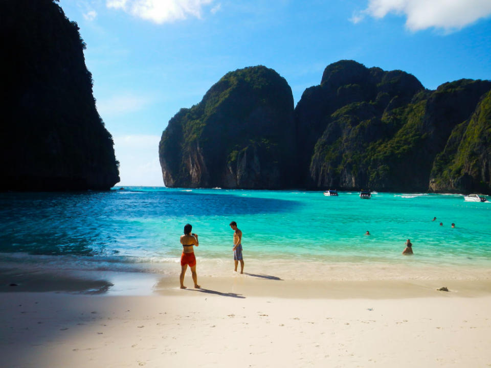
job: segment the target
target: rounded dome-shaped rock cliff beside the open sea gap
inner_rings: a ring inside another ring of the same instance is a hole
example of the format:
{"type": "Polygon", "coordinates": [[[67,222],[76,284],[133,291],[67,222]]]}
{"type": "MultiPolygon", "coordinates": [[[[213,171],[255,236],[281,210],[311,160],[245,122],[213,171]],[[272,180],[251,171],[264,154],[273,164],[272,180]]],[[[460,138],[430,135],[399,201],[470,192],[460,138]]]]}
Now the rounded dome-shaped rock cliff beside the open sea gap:
{"type": "Polygon", "coordinates": [[[292,90],[264,66],[230,72],[203,100],[181,109],[162,134],[159,156],[167,187],[293,187],[292,90]]]}

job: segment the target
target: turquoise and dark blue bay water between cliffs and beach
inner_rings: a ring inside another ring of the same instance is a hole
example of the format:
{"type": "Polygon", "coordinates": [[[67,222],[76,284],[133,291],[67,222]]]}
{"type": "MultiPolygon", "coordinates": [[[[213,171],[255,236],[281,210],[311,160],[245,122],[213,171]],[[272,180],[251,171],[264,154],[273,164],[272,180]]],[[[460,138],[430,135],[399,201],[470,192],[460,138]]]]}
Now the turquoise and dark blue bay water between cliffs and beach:
{"type": "Polygon", "coordinates": [[[375,193],[362,200],[354,192],[137,187],[0,193],[0,261],[120,270],[175,264],[188,222],[199,235],[199,259],[229,261],[233,220],[246,260],[397,264],[408,259],[401,251],[409,238],[419,264],[489,267],[490,215],[491,204],[461,195],[375,193]]]}

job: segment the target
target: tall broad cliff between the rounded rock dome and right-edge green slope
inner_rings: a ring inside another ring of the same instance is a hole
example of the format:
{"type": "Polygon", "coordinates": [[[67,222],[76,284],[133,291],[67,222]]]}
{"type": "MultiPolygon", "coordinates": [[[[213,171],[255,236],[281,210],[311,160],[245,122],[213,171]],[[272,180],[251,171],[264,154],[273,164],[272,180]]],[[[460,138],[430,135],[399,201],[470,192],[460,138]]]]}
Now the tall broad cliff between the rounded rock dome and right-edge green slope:
{"type": "Polygon", "coordinates": [[[490,88],[460,80],[429,91],[402,71],[327,66],[295,111],[301,186],[428,191],[436,155],[490,88]]]}

